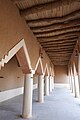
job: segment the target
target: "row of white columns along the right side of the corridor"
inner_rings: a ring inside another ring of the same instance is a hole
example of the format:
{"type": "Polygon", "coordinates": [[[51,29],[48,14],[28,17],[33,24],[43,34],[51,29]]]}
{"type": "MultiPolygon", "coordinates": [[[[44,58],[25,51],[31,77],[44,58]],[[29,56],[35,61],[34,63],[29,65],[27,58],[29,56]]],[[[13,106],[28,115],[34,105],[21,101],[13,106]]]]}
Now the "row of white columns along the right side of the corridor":
{"type": "Polygon", "coordinates": [[[75,62],[69,67],[69,84],[70,89],[75,97],[80,97],[80,55],[78,56],[78,67],[75,62]]]}

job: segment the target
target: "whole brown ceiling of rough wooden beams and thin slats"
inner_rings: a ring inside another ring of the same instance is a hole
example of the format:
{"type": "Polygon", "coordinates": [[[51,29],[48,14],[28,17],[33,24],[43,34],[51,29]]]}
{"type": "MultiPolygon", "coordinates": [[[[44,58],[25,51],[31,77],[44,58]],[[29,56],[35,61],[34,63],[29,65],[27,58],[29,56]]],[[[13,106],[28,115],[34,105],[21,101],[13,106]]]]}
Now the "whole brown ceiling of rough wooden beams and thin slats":
{"type": "Polygon", "coordinates": [[[80,0],[12,0],[54,65],[68,65],[80,34],[80,0]]]}

